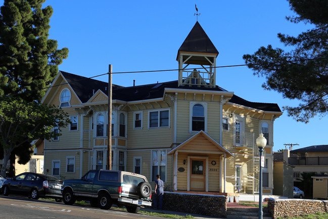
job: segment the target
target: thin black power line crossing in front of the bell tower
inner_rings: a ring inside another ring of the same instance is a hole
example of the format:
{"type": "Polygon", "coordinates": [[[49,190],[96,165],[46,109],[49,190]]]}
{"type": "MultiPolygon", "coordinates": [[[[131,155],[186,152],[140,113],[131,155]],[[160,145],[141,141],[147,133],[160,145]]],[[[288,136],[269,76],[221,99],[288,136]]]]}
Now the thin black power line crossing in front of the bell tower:
{"type": "MultiPolygon", "coordinates": [[[[229,68],[229,67],[241,67],[241,66],[249,66],[249,65],[268,65],[268,64],[278,64],[278,63],[291,63],[291,62],[311,61],[311,60],[320,60],[320,59],[328,59],[328,57],[314,58],[314,59],[300,59],[300,60],[294,60],[294,61],[279,61],[279,62],[253,63],[253,64],[242,64],[242,65],[224,65],[224,66],[202,67],[202,68],[165,69],[165,70],[149,70],[149,71],[123,71],[123,72],[112,72],[112,74],[150,73],[150,72],[194,70],[194,69],[207,69],[207,68],[229,68]]],[[[18,94],[11,94],[11,95],[7,95],[6,97],[12,97],[12,96],[16,96],[16,95],[22,95],[22,94],[32,93],[32,92],[41,91],[41,90],[45,90],[45,89],[50,89],[51,87],[66,85],[66,84],[70,84],[70,83],[76,83],[76,82],[79,82],[79,81],[82,81],[82,80],[91,79],[91,78],[95,78],[95,77],[100,77],[100,76],[104,76],[104,75],[107,75],[107,74],[109,74],[109,72],[104,73],[104,74],[100,74],[100,75],[96,75],[96,76],[92,76],[92,77],[85,77],[83,79],[76,80],[76,81],[71,81],[71,82],[67,82],[67,83],[61,83],[61,84],[58,84],[58,85],[44,87],[42,89],[35,89],[35,90],[32,90],[32,91],[26,91],[26,92],[22,92],[22,93],[18,93],[18,94]]],[[[3,97],[1,97],[1,98],[3,98],[3,97]]]]}

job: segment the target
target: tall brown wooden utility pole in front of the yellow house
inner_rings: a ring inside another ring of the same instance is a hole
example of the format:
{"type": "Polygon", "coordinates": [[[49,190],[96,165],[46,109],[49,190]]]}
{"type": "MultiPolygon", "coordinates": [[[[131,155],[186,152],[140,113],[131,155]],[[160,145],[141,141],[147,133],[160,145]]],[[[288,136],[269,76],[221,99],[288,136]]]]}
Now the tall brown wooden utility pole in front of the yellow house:
{"type": "Polygon", "coordinates": [[[107,169],[112,169],[112,65],[108,65],[107,169]]]}

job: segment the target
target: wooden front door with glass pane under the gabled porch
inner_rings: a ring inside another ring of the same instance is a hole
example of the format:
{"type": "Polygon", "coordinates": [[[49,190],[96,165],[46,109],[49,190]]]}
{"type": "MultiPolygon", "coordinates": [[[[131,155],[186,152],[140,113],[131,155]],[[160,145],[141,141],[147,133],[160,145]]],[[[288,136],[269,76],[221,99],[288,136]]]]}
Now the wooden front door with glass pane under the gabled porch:
{"type": "Polygon", "coordinates": [[[206,159],[191,158],[190,190],[205,191],[206,159]]]}

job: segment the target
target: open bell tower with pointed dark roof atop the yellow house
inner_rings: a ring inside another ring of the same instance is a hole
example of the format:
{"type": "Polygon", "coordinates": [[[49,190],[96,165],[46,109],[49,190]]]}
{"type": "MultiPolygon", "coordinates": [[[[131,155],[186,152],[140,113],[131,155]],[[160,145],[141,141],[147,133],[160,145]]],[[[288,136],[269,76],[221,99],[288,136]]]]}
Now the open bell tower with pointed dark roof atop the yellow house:
{"type": "Polygon", "coordinates": [[[219,52],[197,21],[178,50],[178,85],[215,87],[219,52]],[[194,68],[194,69],[192,69],[194,68]]]}

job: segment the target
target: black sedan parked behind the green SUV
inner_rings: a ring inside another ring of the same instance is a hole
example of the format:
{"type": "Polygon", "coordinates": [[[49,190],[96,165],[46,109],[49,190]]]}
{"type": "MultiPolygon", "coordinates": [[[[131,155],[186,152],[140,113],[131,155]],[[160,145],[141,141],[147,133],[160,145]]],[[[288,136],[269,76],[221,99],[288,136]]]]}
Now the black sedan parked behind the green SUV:
{"type": "Polygon", "coordinates": [[[9,194],[26,195],[32,199],[54,198],[62,201],[61,188],[63,181],[60,179],[34,172],[24,172],[4,182],[2,191],[5,196],[9,194]]]}

